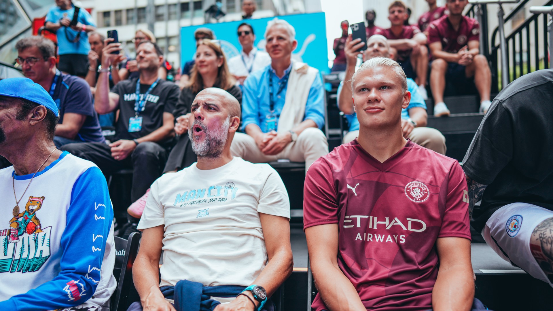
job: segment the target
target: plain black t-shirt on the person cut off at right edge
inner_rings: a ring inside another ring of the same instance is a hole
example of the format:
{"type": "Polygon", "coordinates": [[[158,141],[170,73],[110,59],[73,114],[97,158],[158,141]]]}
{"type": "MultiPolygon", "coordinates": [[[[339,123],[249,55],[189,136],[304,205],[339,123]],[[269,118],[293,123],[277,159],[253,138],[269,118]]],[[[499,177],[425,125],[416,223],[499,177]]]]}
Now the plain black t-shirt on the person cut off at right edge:
{"type": "Polygon", "coordinates": [[[553,69],[519,77],[493,100],[465,159],[463,170],[488,185],[473,226],[510,203],[553,210],[553,69]]]}

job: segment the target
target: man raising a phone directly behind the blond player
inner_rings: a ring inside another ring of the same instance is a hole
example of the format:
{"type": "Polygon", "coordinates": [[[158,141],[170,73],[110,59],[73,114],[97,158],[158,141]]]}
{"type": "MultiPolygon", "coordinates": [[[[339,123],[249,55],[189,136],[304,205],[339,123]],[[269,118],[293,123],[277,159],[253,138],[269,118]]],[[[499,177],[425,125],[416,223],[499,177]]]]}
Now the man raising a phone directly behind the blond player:
{"type": "MultiPolygon", "coordinates": [[[[353,141],[359,135],[359,121],[354,112],[352,101],[351,78],[356,71],[355,64],[357,61],[357,49],[363,46],[363,43],[358,43],[359,40],[351,40],[348,38],[346,43],[346,56],[348,70],[346,77],[340,86],[338,86],[338,107],[346,117],[349,123],[349,132],[344,136],[343,143],[353,141]],[[343,86],[343,87],[342,87],[343,86]]],[[[373,35],[367,42],[367,50],[363,53],[363,61],[374,57],[392,58],[389,53],[390,46],[388,40],[382,35],[373,35]]],[[[403,137],[409,138],[412,142],[419,144],[422,147],[429,148],[437,153],[446,153],[446,139],[440,131],[435,128],[425,127],[427,122],[426,103],[422,100],[413,79],[407,78],[407,90],[411,93],[411,100],[407,108],[401,110],[401,129],[403,137]]]]}

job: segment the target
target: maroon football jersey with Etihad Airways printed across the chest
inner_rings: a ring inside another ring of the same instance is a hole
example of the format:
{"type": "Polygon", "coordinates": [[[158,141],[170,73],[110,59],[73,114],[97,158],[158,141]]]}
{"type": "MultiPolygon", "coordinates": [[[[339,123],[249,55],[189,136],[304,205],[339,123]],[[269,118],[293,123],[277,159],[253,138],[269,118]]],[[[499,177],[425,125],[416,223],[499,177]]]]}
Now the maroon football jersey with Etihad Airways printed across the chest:
{"type": "MultiPolygon", "coordinates": [[[[338,224],[338,266],[367,310],[432,308],[436,239],[471,239],[457,160],[411,141],[384,163],[357,139],[307,170],[304,230],[338,224]]],[[[312,308],[326,309],[320,294],[312,308]]]]}

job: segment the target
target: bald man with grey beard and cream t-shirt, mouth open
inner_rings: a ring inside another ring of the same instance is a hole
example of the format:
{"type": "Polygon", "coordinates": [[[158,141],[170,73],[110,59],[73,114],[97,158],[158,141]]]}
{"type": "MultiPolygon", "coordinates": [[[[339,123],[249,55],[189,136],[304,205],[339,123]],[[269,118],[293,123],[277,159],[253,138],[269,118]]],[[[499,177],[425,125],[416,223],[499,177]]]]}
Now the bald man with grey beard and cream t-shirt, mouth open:
{"type": "Polygon", "coordinates": [[[174,310],[167,299],[178,310],[273,310],[267,298],[293,267],[290,203],[273,168],[232,157],[239,116],[238,101],[221,89],[192,103],[188,136],[198,161],[152,185],[133,267],[140,302],[129,310],[141,302],[174,310]]]}

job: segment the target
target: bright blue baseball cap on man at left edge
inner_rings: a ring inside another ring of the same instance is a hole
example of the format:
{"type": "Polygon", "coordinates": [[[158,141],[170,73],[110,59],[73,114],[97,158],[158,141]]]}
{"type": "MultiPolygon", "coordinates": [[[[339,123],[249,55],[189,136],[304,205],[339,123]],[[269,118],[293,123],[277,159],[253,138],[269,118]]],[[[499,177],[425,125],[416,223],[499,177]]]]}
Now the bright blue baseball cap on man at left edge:
{"type": "Polygon", "coordinates": [[[44,90],[44,87],[29,78],[17,77],[0,80],[0,96],[32,101],[54,112],[56,117],[60,115],[58,106],[50,94],[44,90]]]}

